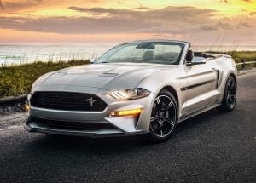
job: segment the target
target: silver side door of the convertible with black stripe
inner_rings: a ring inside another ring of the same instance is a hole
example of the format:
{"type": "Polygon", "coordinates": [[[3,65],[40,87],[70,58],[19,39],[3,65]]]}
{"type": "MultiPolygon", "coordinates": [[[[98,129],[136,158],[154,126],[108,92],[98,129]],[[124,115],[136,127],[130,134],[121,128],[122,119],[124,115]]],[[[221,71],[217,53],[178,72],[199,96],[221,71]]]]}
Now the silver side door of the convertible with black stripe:
{"type": "Polygon", "coordinates": [[[187,86],[182,90],[187,90],[187,101],[184,106],[186,113],[211,106],[216,98],[218,70],[211,61],[207,61],[205,64],[185,66],[185,71],[187,86]]]}

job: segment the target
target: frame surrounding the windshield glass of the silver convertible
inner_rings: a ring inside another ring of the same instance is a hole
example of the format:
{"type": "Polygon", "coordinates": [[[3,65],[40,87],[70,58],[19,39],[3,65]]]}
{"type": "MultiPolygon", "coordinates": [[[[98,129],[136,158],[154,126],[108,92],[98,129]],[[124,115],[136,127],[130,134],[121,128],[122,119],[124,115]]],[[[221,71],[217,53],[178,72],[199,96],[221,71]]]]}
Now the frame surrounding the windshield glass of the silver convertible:
{"type": "Polygon", "coordinates": [[[185,49],[185,43],[183,42],[172,42],[172,41],[143,41],[143,42],[130,42],[130,43],[121,43],[121,44],[118,44],[116,46],[114,46],[112,49],[108,49],[108,51],[106,51],[104,54],[102,54],[102,56],[100,56],[96,61],[95,63],[96,64],[102,64],[102,63],[109,63],[109,64],[119,64],[119,63],[143,63],[143,64],[161,64],[161,65],[174,65],[174,66],[177,66],[181,63],[181,59],[182,59],[182,56],[183,56],[183,50],[185,49]],[[108,54],[109,51],[113,50],[113,49],[118,49],[119,47],[122,47],[122,46],[125,46],[125,45],[129,45],[129,44],[134,44],[134,43],[159,43],[159,44],[163,44],[163,45],[178,45],[180,46],[181,50],[180,50],[180,53],[178,55],[178,58],[177,58],[177,62],[175,64],[168,64],[167,62],[166,63],[160,63],[160,62],[132,62],[132,61],[123,61],[123,62],[107,62],[107,61],[100,61],[101,58],[108,54]]]}

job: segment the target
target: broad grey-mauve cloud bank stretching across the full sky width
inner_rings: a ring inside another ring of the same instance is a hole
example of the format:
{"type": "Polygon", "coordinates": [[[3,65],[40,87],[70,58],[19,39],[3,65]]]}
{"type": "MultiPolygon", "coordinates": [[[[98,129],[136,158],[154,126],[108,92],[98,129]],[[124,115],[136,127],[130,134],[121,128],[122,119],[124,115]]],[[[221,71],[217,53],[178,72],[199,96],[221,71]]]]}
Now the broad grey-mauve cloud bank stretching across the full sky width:
{"type": "MultiPolygon", "coordinates": [[[[191,43],[210,43],[216,37],[232,41],[241,37],[252,42],[255,16],[225,17],[212,9],[168,6],[163,9],[104,9],[69,7],[80,17],[0,17],[0,28],[18,31],[50,32],[62,35],[108,34],[152,35],[157,38],[186,39],[191,43]]],[[[256,14],[256,12],[255,12],[256,14]]],[[[253,14],[252,14],[253,15],[253,14]]],[[[108,37],[108,36],[106,36],[108,37]]],[[[114,42],[114,40],[113,40],[114,42]]]]}

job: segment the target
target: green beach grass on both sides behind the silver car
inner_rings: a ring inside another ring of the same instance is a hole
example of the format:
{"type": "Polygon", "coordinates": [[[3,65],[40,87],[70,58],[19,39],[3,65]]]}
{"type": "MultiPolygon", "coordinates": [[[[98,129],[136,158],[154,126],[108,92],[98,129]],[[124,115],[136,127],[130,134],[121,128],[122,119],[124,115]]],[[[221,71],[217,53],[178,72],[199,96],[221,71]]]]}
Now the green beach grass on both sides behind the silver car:
{"type": "MultiPolygon", "coordinates": [[[[215,52],[216,53],[216,52],[215,52]]],[[[256,61],[256,51],[230,51],[218,52],[217,54],[229,54],[236,63],[243,61],[256,61]]],[[[57,71],[70,66],[79,66],[89,64],[90,60],[70,60],[57,62],[34,62],[32,64],[23,64],[20,66],[0,67],[0,98],[5,96],[15,96],[28,94],[32,83],[44,73],[57,71]]],[[[256,64],[247,65],[247,68],[256,66],[256,64]]],[[[241,69],[243,66],[237,66],[241,69]]]]}

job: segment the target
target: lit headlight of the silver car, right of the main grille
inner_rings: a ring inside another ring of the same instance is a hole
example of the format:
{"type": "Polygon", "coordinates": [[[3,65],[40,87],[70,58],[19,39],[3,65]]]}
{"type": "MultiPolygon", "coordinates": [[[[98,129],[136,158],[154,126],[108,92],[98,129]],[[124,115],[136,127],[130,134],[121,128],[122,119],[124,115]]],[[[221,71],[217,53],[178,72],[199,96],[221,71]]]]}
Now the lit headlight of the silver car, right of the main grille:
{"type": "Polygon", "coordinates": [[[146,97],[150,94],[150,91],[147,89],[124,89],[124,90],[118,90],[108,93],[110,96],[112,96],[114,99],[119,100],[132,100],[132,99],[140,99],[143,97],[146,97]]]}

